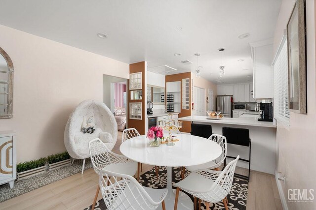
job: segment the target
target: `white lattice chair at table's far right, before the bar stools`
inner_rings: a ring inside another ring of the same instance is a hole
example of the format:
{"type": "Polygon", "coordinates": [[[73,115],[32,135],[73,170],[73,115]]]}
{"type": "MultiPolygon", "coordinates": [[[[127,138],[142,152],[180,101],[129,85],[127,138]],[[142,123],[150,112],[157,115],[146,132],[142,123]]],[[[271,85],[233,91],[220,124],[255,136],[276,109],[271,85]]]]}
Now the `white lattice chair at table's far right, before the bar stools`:
{"type": "Polygon", "coordinates": [[[202,170],[202,169],[212,169],[212,170],[217,171],[218,167],[220,167],[224,163],[224,160],[225,160],[226,154],[227,154],[226,137],[219,135],[219,134],[212,134],[208,139],[219,144],[219,146],[222,148],[221,155],[218,158],[216,158],[215,160],[204,163],[204,164],[200,164],[200,165],[196,165],[196,166],[187,166],[186,169],[188,171],[192,172],[192,171],[197,171],[197,170],[202,170]]]}

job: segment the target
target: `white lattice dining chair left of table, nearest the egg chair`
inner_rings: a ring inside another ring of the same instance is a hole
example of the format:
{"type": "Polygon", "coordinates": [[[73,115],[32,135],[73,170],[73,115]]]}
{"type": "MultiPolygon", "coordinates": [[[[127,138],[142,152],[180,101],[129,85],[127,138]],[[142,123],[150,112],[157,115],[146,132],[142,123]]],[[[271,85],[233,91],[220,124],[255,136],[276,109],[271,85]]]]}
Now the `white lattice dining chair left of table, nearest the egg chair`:
{"type": "MultiPolygon", "coordinates": [[[[137,162],[112,152],[100,139],[93,139],[89,142],[89,152],[93,169],[98,175],[103,169],[129,176],[136,174],[137,162]]],[[[99,191],[100,186],[98,185],[91,210],[94,209],[99,191]]]]}

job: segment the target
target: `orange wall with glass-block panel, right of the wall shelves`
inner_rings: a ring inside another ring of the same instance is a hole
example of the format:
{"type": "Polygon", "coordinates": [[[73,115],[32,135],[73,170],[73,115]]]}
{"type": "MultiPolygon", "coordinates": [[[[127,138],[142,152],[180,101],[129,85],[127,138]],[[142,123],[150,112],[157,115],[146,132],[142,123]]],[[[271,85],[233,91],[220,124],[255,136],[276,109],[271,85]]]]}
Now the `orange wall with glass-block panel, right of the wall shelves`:
{"type": "MultiPolygon", "coordinates": [[[[187,117],[187,116],[191,116],[191,109],[192,109],[192,102],[191,102],[191,72],[187,72],[187,73],[181,73],[181,74],[173,74],[173,75],[167,75],[166,76],[166,84],[165,87],[167,87],[167,82],[177,82],[180,81],[181,82],[181,93],[180,93],[180,97],[181,97],[181,112],[179,113],[179,118],[182,117],[187,117]],[[187,79],[190,78],[190,109],[182,109],[182,79],[187,79]]],[[[181,121],[181,120],[180,120],[181,121]]],[[[183,121],[183,127],[180,129],[181,132],[187,132],[190,133],[191,132],[191,122],[190,121],[183,121]]]]}

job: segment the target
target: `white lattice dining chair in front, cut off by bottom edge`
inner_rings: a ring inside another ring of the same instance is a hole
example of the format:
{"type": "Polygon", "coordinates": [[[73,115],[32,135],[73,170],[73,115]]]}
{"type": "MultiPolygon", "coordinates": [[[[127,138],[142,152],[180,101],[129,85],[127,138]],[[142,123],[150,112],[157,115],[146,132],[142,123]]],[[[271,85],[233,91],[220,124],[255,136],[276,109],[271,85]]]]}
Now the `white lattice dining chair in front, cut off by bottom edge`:
{"type": "Polygon", "coordinates": [[[109,170],[101,171],[99,186],[108,210],[155,210],[160,204],[165,210],[168,189],[143,187],[133,177],[109,170]]]}

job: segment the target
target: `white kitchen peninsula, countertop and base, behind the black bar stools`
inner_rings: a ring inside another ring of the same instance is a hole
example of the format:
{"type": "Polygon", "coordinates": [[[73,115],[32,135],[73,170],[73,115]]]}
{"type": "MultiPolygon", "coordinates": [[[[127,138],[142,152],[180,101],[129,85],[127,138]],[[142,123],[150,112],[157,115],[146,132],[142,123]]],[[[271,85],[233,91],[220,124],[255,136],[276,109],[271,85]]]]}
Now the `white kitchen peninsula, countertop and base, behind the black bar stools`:
{"type": "MultiPolygon", "coordinates": [[[[220,135],[223,133],[223,127],[248,129],[251,139],[251,169],[274,174],[276,170],[276,123],[258,121],[257,118],[258,115],[245,114],[239,118],[222,118],[221,120],[207,120],[206,116],[190,116],[179,118],[179,120],[210,124],[212,133],[220,135]]],[[[227,156],[237,157],[237,155],[240,155],[240,158],[248,159],[249,148],[228,144],[227,156]]],[[[231,160],[228,159],[228,161],[231,160]]],[[[238,161],[237,166],[248,168],[248,163],[238,161]]]]}

